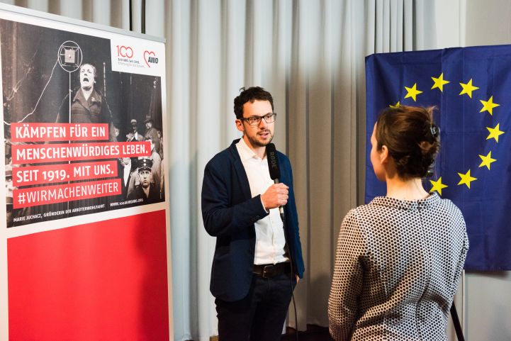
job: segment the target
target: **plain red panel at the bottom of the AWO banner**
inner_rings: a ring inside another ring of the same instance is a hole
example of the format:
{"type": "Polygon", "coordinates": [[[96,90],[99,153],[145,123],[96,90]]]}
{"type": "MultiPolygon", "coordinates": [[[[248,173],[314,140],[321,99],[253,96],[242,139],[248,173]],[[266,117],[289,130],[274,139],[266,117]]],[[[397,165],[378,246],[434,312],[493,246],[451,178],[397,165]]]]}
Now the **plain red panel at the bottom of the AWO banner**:
{"type": "Polygon", "coordinates": [[[7,240],[10,340],[169,340],[165,211],[7,240]]]}

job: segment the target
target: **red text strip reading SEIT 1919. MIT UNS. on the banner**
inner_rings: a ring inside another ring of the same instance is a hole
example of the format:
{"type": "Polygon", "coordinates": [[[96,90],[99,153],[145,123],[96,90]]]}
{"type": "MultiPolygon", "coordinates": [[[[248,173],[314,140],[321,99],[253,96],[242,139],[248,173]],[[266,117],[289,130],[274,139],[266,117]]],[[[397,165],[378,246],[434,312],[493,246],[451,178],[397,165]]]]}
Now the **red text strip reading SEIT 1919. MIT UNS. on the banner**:
{"type": "Polygon", "coordinates": [[[13,186],[117,177],[117,161],[13,167],[13,186]]]}

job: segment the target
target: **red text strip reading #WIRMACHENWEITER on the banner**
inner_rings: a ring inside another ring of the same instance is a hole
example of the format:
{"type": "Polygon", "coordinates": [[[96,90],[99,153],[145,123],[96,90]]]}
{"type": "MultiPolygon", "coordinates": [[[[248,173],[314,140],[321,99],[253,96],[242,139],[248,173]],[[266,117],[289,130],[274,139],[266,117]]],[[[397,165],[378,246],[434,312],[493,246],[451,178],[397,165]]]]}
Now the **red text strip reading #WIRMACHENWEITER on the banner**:
{"type": "Polygon", "coordinates": [[[23,208],[47,203],[64,203],[101,196],[116,196],[121,193],[120,179],[14,189],[13,207],[23,208]]]}

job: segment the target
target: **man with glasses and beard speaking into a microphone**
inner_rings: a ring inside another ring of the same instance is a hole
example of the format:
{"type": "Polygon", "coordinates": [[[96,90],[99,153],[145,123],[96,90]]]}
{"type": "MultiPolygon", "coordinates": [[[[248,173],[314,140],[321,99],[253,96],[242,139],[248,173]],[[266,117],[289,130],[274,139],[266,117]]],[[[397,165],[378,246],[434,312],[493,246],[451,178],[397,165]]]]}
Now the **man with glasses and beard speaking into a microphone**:
{"type": "Polygon", "coordinates": [[[208,162],[202,187],[204,226],[216,237],[210,291],[219,339],[280,340],[304,270],[291,164],[277,152],[281,175],[274,184],[266,145],[274,136],[276,113],[268,91],[242,89],[234,111],[243,137],[208,162]]]}

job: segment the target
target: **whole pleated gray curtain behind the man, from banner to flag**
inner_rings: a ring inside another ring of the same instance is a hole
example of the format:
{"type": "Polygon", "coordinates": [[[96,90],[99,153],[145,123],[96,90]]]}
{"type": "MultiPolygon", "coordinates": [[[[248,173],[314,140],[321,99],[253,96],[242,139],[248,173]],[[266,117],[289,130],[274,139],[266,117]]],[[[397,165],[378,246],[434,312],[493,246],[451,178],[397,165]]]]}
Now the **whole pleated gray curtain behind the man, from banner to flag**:
{"type": "MultiPolygon", "coordinates": [[[[2,1],[129,28],[128,0],[2,1]]],[[[142,1],[132,1],[140,32],[142,1]]],[[[428,0],[147,0],[146,33],[167,39],[174,340],[209,340],[215,239],[200,213],[203,168],[240,137],[232,100],[241,86],[274,95],[275,143],[293,165],[305,278],[298,326],[327,325],[335,242],[361,203],[365,165],[364,57],[435,47],[428,0]]],[[[294,318],[289,324],[294,327],[294,318]]]]}

